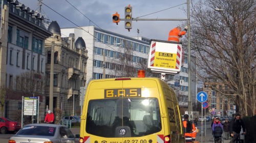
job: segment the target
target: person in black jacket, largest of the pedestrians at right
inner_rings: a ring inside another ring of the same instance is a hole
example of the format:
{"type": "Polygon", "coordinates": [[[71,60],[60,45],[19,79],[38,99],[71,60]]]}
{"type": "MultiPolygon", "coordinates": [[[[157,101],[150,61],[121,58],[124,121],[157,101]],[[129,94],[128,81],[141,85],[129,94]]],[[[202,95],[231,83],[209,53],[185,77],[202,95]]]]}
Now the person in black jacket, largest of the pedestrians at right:
{"type": "Polygon", "coordinates": [[[238,135],[243,130],[243,134],[246,134],[245,125],[241,118],[241,115],[237,113],[236,117],[229,124],[229,132],[231,135],[230,143],[236,142],[238,135]]]}

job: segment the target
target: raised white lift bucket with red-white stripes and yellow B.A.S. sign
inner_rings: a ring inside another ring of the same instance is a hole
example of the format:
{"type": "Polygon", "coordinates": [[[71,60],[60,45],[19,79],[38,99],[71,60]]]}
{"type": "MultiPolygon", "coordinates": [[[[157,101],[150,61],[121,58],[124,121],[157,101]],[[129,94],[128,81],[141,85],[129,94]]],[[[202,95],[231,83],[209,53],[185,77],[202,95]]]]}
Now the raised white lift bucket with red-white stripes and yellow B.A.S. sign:
{"type": "Polygon", "coordinates": [[[177,74],[181,71],[182,59],[180,42],[151,40],[147,68],[153,72],[177,74]]]}

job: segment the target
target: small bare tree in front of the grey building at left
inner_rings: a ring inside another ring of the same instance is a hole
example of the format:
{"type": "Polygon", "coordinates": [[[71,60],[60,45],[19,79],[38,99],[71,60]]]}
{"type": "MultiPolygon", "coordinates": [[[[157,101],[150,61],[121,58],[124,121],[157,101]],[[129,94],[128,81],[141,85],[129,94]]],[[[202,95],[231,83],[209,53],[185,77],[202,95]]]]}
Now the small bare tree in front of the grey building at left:
{"type": "Polygon", "coordinates": [[[42,94],[45,92],[45,76],[37,72],[24,72],[16,76],[15,89],[23,94],[42,94]]]}

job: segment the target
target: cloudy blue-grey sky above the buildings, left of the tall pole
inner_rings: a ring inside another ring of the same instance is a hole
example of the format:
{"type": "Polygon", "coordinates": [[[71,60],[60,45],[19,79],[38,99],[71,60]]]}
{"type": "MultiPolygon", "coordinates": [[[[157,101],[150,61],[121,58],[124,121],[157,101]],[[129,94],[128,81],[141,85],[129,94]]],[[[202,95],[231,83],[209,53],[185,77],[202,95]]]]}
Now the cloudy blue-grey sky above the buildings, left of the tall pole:
{"type": "MultiPolygon", "coordinates": [[[[39,10],[37,0],[18,0],[18,2],[34,11],[39,10]]],[[[41,12],[47,14],[49,21],[57,21],[60,28],[95,25],[103,30],[129,37],[141,36],[167,40],[169,31],[186,21],[138,20],[132,22],[132,29],[129,32],[124,28],[123,20],[118,25],[112,22],[112,14],[118,12],[120,18],[124,18],[124,7],[130,5],[133,18],[186,19],[187,14],[184,11],[187,9],[186,2],[186,0],[42,0],[41,12]]]]}

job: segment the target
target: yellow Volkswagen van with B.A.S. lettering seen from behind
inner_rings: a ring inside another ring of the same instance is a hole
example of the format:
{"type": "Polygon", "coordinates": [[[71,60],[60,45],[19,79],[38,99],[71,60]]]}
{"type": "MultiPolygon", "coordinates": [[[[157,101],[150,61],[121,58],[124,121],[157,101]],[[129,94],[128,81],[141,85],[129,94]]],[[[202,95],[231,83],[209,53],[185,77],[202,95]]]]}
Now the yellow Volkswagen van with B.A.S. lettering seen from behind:
{"type": "Polygon", "coordinates": [[[159,78],[92,80],[84,99],[79,142],[185,142],[177,97],[159,78]]]}

